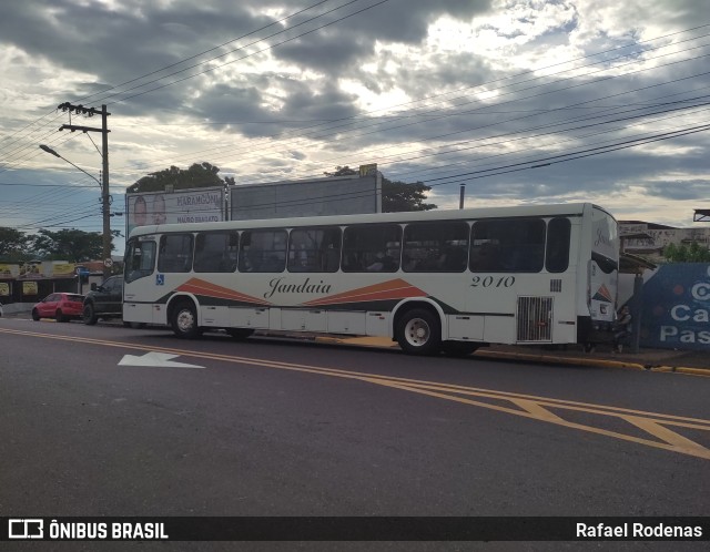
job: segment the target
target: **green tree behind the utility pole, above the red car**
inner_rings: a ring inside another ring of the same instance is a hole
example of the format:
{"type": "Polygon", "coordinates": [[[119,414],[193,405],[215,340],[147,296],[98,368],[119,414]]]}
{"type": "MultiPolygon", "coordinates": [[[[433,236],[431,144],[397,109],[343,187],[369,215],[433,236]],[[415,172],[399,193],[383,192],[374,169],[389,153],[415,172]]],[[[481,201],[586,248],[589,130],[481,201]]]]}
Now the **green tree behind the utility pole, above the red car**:
{"type": "MultiPolygon", "coordinates": [[[[112,237],[116,237],[119,231],[112,231],[111,234],[112,237]]],[[[41,229],[32,242],[38,256],[48,260],[85,263],[103,256],[103,235],[100,232],[83,232],[74,228],[59,232],[41,229]]],[[[111,251],[113,249],[112,243],[111,251]]]]}

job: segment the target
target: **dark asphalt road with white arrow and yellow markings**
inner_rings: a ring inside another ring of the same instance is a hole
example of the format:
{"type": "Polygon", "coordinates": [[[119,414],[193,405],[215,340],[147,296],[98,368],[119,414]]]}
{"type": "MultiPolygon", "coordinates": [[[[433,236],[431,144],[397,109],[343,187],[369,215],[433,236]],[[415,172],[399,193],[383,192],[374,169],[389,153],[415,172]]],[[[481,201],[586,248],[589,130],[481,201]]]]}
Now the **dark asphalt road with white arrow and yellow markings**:
{"type": "Polygon", "coordinates": [[[0,318],[0,515],[703,515],[709,396],[680,374],[0,318]]]}

